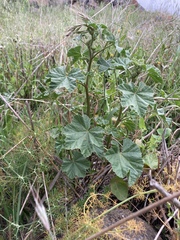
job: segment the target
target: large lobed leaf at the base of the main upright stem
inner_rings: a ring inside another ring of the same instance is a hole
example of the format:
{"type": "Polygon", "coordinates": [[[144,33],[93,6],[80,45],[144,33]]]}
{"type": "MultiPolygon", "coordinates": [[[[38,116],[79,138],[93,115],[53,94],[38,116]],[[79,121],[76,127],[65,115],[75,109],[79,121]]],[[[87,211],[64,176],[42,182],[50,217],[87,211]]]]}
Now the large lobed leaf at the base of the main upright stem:
{"type": "Polygon", "coordinates": [[[90,119],[86,115],[77,115],[63,129],[66,149],[80,149],[84,157],[93,152],[98,155],[103,151],[103,133],[101,127],[90,128],[90,119]]]}

